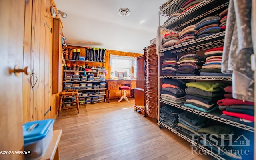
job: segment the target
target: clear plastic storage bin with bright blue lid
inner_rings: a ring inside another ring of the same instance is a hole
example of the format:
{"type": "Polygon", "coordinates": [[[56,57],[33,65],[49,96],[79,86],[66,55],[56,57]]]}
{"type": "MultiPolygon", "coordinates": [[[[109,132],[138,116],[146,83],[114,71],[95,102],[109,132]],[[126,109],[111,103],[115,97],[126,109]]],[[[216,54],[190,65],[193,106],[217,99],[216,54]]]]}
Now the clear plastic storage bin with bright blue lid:
{"type": "Polygon", "coordinates": [[[54,119],[38,120],[23,124],[24,150],[26,159],[42,158],[52,140],[54,119]]]}

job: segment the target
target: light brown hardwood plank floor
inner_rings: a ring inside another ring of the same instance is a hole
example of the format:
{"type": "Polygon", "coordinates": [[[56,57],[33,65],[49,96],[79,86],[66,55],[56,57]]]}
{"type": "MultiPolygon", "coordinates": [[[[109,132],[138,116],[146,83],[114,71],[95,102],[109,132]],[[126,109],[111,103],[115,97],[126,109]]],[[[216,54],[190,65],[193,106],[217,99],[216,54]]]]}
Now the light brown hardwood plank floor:
{"type": "Polygon", "coordinates": [[[54,130],[62,129],[60,160],[212,160],[191,154],[190,143],[157,120],[133,110],[134,98],[62,110],[54,130]]]}

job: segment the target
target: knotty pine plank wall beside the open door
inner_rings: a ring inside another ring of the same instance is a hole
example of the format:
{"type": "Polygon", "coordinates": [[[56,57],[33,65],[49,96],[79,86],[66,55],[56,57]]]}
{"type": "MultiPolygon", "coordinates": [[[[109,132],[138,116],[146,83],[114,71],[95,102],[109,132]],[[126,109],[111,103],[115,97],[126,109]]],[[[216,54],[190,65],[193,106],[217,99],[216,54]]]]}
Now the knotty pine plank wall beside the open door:
{"type": "Polygon", "coordinates": [[[24,123],[57,117],[59,93],[52,94],[53,18],[50,6],[55,7],[53,0],[26,1],[23,61],[24,66],[30,66],[34,76],[23,78],[24,123]],[[30,83],[35,84],[33,89],[30,83]]]}

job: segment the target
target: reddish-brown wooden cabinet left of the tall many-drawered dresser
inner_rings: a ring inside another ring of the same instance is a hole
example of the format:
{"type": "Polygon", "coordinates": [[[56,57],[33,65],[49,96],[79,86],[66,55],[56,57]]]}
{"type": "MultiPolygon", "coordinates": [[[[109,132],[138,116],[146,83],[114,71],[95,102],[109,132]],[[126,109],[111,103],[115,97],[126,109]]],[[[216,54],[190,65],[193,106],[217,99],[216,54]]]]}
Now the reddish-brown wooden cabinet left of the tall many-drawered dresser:
{"type": "MultiPolygon", "coordinates": [[[[134,88],[134,110],[139,110],[142,116],[146,116],[145,113],[145,95],[144,95],[144,84],[145,84],[145,61],[144,55],[139,56],[137,59],[137,86],[134,88]]],[[[132,84],[131,84],[132,85],[132,84]]]]}

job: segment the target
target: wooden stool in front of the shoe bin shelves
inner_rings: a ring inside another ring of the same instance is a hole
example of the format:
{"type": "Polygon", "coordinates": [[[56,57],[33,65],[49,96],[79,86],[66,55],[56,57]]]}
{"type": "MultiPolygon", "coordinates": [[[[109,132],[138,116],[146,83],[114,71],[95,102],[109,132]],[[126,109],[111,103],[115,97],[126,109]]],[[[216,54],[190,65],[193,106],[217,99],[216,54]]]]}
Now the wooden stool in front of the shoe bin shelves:
{"type": "Polygon", "coordinates": [[[64,90],[60,92],[60,106],[59,106],[59,114],[58,117],[60,116],[60,110],[66,110],[66,109],[72,109],[76,108],[77,112],[79,114],[79,101],[78,101],[78,90],[64,90]],[[65,102],[65,97],[66,96],[76,96],[76,107],[65,107],[64,108],[64,102],[65,102]]]}

